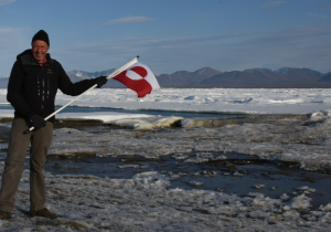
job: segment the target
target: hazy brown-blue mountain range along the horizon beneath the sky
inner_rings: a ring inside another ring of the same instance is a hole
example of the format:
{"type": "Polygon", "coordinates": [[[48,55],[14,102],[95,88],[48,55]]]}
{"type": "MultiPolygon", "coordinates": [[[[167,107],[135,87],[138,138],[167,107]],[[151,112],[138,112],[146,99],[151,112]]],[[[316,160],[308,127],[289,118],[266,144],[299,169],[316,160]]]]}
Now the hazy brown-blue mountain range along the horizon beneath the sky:
{"type": "MultiPolygon", "coordinates": [[[[73,83],[108,76],[115,68],[102,72],[74,70],[67,72],[73,83]]],[[[194,72],[179,71],[173,74],[157,76],[161,87],[331,87],[331,72],[322,74],[310,68],[281,67],[279,70],[249,68],[245,71],[220,72],[211,67],[202,67],[194,72]]],[[[0,88],[7,88],[9,76],[0,77],[0,88]]],[[[109,80],[105,87],[126,87],[121,83],[109,80]]]]}

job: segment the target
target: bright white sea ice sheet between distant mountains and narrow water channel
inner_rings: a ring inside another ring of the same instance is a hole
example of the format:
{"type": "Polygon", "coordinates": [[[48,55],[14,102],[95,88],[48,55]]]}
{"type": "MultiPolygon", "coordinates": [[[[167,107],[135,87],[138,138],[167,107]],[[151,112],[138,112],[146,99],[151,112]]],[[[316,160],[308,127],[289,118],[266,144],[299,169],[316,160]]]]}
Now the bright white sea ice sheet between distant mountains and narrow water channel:
{"type": "MultiPolygon", "coordinates": [[[[56,105],[72,101],[58,92],[56,105]]],[[[0,89],[0,104],[8,104],[0,89]]],[[[131,89],[93,89],[76,106],[225,113],[299,114],[331,109],[330,88],[161,88],[137,98],[131,89]]]]}

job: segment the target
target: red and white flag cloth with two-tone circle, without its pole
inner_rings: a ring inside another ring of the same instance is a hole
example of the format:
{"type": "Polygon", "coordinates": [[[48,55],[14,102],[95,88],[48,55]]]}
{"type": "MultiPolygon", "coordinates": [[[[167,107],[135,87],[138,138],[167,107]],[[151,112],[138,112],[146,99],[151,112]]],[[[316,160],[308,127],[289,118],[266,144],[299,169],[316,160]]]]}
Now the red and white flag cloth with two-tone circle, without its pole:
{"type": "Polygon", "coordinates": [[[138,97],[145,97],[152,91],[160,88],[160,85],[151,70],[139,62],[128,67],[120,74],[114,76],[113,78],[122,83],[128,88],[136,91],[138,97]]]}

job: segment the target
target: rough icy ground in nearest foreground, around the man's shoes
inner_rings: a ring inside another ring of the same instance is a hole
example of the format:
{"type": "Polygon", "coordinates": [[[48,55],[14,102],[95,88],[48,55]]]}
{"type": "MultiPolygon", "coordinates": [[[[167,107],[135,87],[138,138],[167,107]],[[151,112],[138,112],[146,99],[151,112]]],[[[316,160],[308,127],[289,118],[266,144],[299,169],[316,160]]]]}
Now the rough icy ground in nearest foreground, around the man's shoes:
{"type": "Polygon", "coordinates": [[[29,171],[24,170],[13,219],[0,221],[1,231],[327,232],[331,228],[330,204],[310,211],[311,199],[305,193],[282,200],[256,192],[238,197],[167,189],[171,182],[157,171],[130,179],[45,173],[45,182],[47,207],[61,217],[47,220],[23,213],[29,209],[29,171]]]}

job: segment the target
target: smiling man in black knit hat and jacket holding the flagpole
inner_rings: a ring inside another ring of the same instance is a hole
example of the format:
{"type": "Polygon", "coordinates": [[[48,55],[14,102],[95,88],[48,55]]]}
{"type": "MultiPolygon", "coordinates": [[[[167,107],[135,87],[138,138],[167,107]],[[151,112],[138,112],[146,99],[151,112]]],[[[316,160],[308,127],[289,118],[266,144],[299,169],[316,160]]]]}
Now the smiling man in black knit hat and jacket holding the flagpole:
{"type": "Polygon", "coordinates": [[[47,122],[44,118],[54,112],[57,88],[64,94],[76,96],[95,84],[100,87],[107,83],[106,76],[99,76],[73,84],[61,64],[47,53],[50,40],[45,31],[39,31],[31,44],[32,50],[18,55],[8,83],[7,99],[15,112],[2,175],[0,219],[11,218],[30,141],[30,215],[57,218],[45,207],[44,182],[44,165],[55,117],[47,122]],[[33,131],[23,135],[32,126],[33,131]]]}

